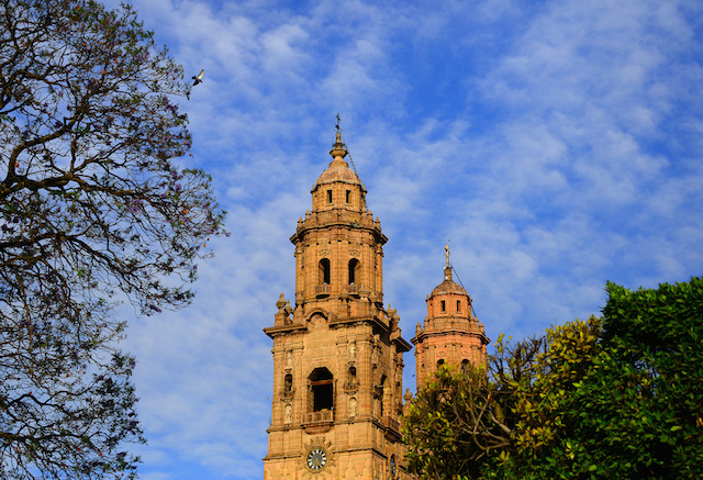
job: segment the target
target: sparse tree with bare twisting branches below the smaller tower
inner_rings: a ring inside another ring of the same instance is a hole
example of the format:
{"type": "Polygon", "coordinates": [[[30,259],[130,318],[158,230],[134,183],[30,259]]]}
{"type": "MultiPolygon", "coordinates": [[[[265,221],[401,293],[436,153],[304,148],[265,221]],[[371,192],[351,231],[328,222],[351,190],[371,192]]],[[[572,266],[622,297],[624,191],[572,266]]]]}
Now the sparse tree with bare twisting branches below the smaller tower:
{"type": "Polygon", "coordinates": [[[432,480],[489,472],[512,445],[514,389],[543,349],[543,338],[511,344],[501,336],[488,371],[442,366],[404,417],[409,470],[432,480]]]}

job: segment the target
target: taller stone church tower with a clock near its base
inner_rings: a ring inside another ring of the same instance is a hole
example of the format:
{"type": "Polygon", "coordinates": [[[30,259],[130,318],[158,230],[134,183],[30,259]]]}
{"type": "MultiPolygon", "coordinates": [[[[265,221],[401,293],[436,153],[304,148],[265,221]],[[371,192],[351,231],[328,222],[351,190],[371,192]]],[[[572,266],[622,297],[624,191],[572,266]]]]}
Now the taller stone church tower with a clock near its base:
{"type": "Polygon", "coordinates": [[[401,467],[399,315],[383,308],[383,244],[366,189],[344,158],[332,163],[298,221],[295,302],[276,303],[274,397],[266,480],[409,479],[401,467]]]}

